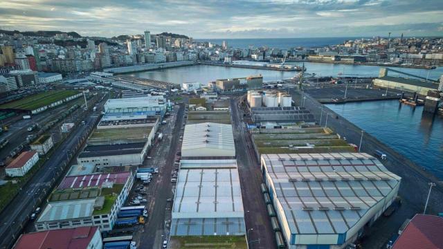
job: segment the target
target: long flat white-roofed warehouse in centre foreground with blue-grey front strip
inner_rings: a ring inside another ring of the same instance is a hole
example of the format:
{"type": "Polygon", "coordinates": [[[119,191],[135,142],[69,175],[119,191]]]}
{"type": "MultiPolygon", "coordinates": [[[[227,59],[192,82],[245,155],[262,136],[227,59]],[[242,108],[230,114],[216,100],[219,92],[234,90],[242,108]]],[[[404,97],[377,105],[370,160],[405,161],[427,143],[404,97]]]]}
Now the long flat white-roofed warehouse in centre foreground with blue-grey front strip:
{"type": "Polygon", "coordinates": [[[171,235],[244,235],[245,230],[236,160],[182,160],[171,235]]]}

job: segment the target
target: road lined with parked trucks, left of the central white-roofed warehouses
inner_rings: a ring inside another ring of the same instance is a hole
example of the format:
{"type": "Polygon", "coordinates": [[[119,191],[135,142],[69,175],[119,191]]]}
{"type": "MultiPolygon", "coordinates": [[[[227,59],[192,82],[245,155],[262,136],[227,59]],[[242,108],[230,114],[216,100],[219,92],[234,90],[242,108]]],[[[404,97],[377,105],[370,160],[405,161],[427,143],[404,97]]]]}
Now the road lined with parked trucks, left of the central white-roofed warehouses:
{"type": "Polygon", "coordinates": [[[147,167],[159,167],[159,174],[150,183],[147,192],[149,203],[149,219],[137,237],[137,244],[141,248],[162,248],[163,239],[169,232],[165,229],[165,220],[170,219],[170,203],[168,199],[174,198],[172,192],[171,172],[174,169],[174,160],[181,147],[179,136],[183,127],[184,104],[176,106],[174,116],[168,118],[166,127],[161,127],[163,140],[150,151],[151,160],[147,160],[147,167]]]}

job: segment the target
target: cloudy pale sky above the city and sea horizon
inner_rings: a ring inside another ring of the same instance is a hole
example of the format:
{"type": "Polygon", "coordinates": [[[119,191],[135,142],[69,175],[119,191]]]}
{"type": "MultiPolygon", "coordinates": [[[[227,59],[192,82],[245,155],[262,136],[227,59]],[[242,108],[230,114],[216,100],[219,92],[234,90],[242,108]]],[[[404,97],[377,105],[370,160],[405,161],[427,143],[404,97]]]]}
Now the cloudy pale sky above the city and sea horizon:
{"type": "Polygon", "coordinates": [[[0,29],[194,38],[443,35],[443,0],[0,0],[0,29]]]}

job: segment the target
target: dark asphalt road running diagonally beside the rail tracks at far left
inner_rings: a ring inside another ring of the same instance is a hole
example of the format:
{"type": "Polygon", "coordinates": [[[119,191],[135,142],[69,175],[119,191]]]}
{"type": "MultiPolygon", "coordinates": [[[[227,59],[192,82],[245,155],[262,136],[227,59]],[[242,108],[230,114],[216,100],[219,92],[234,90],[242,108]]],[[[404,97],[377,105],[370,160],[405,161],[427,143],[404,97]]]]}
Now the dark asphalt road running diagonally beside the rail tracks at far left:
{"type": "Polygon", "coordinates": [[[98,115],[85,119],[86,124],[75,129],[62,145],[55,149],[42,168],[17,194],[15,199],[0,214],[0,248],[10,248],[12,242],[28,222],[30,214],[36,205],[51,192],[53,184],[60,177],[69,162],[69,158],[81,147],[81,140],[93,129],[98,115]]]}

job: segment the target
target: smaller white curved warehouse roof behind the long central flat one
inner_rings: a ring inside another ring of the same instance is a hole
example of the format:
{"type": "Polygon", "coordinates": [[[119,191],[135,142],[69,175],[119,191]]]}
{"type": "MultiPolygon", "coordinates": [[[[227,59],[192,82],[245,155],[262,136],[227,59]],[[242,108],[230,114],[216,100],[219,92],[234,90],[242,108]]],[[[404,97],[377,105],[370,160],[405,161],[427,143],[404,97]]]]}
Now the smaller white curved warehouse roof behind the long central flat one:
{"type": "Polygon", "coordinates": [[[230,124],[187,124],[181,147],[183,157],[234,157],[235,145],[230,124]]]}

